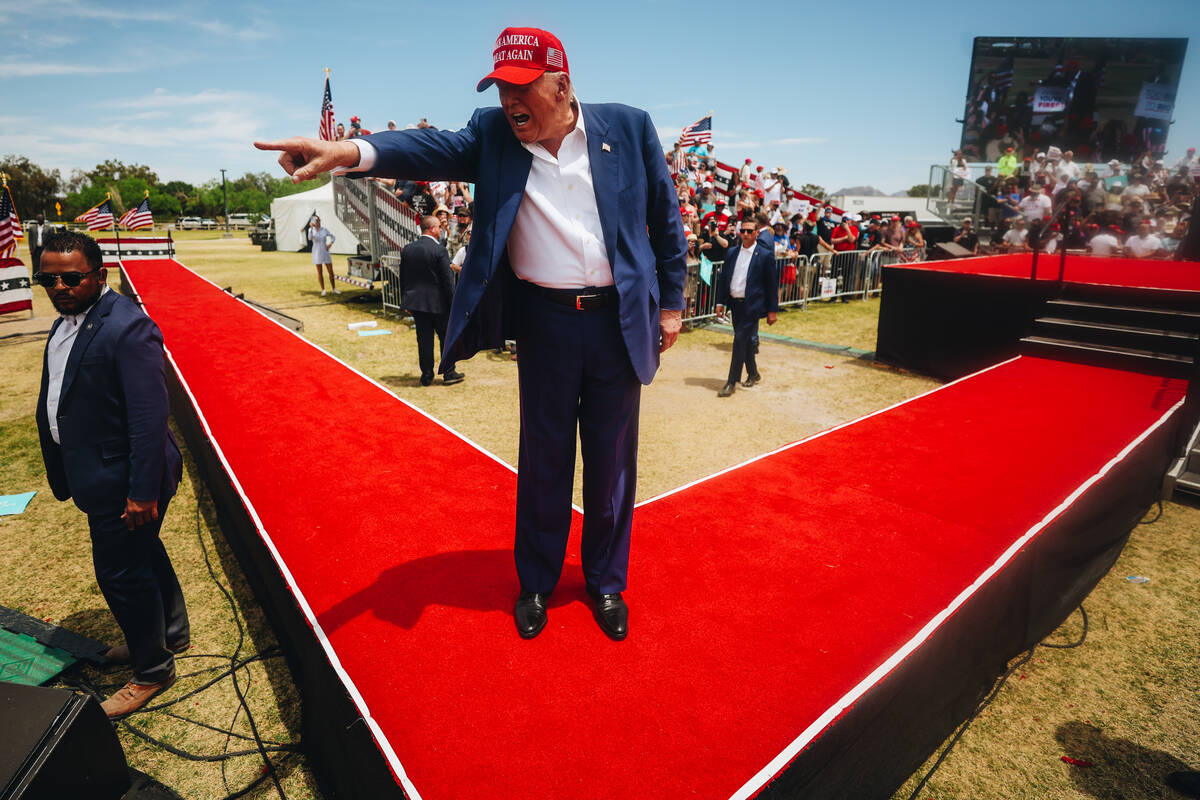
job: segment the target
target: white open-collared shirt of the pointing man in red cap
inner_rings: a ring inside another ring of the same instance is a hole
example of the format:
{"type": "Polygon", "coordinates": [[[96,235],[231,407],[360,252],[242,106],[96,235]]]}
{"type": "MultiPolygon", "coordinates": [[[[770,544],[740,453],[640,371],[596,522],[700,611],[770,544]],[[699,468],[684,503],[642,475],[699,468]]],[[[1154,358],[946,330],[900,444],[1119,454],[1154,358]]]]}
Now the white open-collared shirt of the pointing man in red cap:
{"type": "MultiPolygon", "coordinates": [[[[374,167],[374,146],[350,140],[359,149],[359,164],[335,173],[374,167]]],[[[521,146],[533,155],[533,163],[509,234],[512,271],[523,281],[551,289],[612,285],[583,110],[577,112],[575,128],[563,138],[557,157],[536,143],[521,146]]]]}

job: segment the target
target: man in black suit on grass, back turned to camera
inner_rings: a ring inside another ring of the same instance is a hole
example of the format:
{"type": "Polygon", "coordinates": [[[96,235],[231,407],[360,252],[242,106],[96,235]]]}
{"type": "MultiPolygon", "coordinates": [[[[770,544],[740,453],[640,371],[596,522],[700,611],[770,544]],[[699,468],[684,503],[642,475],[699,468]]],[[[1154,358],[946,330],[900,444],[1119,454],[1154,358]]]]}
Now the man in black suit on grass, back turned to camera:
{"type": "MultiPolygon", "coordinates": [[[[421,365],[422,386],[433,383],[433,333],[438,335],[440,355],[454,297],[450,254],[438,242],[440,234],[442,223],[436,216],[421,217],[420,237],[400,252],[400,305],[416,323],[416,357],[421,365]]],[[[448,363],[442,381],[449,386],[461,383],[464,377],[454,363],[448,363]]]]}

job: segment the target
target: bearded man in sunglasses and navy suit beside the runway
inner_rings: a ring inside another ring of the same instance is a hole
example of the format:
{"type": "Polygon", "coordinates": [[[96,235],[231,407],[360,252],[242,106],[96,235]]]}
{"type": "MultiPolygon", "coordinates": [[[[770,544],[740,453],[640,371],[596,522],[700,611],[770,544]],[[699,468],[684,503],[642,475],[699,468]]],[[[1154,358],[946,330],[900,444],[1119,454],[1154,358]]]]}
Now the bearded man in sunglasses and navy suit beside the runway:
{"type": "Polygon", "coordinates": [[[106,285],[100,246],[56,233],[34,279],[61,317],[50,329],[37,397],[37,432],[54,497],[88,515],[96,581],[125,634],[106,655],[133,675],[101,704],[134,711],[175,681],[191,630],[184,595],[158,539],[182,476],[167,428],[162,333],[106,285]]]}

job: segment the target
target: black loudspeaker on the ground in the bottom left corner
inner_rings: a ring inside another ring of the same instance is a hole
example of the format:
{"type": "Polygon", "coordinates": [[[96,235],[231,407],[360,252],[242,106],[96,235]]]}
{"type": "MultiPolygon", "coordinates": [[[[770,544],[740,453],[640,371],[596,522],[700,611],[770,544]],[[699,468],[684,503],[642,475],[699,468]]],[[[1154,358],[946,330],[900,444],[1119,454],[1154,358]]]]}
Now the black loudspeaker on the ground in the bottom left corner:
{"type": "Polygon", "coordinates": [[[0,682],[0,800],[120,798],[125,751],[95,698],[0,682]]]}

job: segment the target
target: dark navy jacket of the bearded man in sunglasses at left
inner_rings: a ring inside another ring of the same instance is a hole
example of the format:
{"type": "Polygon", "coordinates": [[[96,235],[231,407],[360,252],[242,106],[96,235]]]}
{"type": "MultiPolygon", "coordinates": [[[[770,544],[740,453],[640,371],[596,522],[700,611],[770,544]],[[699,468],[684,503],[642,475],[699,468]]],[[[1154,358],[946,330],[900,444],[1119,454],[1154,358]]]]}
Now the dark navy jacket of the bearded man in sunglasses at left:
{"type": "MultiPolygon", "coordinates": [[[[54,323],[50,338],[61,324],[54,323]]],[[[88,312],[59,393],[61,445],[46,416],[48,386],[43,354],[36,416],[54,497],[73,498],[85,513],[120,512],[126,498],[157,499],[161,509],[175,493],[182,458],[167,428],[162,333],[154,320],[116,291],[88,312]]]]}

